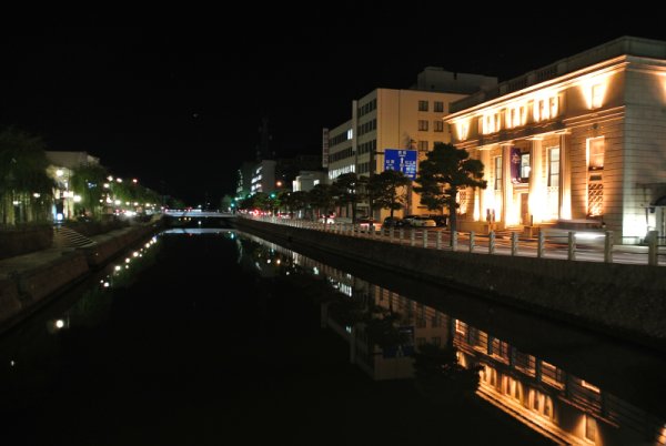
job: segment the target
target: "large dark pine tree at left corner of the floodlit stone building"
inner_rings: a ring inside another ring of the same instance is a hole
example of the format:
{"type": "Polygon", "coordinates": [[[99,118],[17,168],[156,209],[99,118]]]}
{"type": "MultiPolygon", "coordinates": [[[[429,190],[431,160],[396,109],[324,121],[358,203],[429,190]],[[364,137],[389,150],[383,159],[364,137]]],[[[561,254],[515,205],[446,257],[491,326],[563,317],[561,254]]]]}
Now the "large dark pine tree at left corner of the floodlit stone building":
{"type": "Polygon", "coordinates": [[[414,191],[421,194],[421,204],[430,210],[448,207],[451,231],[456,229],[456,195],[466,187],[486,189],[483,163],[470,159],[470,152],[453,144],[436,142],[427,159],[418,166],[414,191]]]}

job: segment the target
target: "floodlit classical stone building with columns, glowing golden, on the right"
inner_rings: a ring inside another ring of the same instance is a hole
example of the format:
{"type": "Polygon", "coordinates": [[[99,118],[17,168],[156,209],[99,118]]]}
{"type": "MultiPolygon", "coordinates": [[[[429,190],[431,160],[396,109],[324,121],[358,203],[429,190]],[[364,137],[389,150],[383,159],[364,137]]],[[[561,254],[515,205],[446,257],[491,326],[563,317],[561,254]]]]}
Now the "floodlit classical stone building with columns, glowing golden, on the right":
{"type": "Polygon", "coordinates": [[[665,235],[666,42],[616,39],[462,99],[445,122],[488,184],[460,194],[461,230],[584,220],[615,243],[665,235]]]}

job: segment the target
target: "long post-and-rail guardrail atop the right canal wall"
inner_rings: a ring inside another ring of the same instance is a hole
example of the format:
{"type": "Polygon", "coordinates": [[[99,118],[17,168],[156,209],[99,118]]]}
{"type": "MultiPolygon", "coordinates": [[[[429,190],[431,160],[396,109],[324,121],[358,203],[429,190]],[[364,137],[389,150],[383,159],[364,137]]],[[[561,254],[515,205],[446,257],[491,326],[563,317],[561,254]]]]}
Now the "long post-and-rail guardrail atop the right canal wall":
{"type": "Polygon", "coordinates": [[[577,240],[576,231],[566,236],[521,237],[517,232],[488,234],[451,232],[443,229],[382,227],[352,223],[319,223],[306,220],[252,217],[274,224],[331,232],[352,237],[367,237],[380,242],[397,243],[425,249],[470,252],[475,254],[532,256],[604,263],[630,263],[650,266],[666,265],[666,237],[656,231],[648,233],[645,245],[615,244],[613,231],[605,231],[601,240],[577,240]]]}

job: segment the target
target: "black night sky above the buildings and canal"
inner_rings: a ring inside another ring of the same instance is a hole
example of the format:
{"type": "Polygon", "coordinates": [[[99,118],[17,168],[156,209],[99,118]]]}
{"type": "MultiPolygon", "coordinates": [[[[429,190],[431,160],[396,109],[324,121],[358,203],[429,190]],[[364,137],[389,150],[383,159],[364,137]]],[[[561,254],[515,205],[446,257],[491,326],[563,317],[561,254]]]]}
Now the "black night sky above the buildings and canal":
{"type": "Polygon", "coordinates": [[[666,40],[658,14],[589,26],[440,3],[3,13],[0,126],[195,205],[233,191],[262,118],[278,156],[315,154],[353,99],[407,88],[427,65],[502,81],[625,34],[666,40]]]}

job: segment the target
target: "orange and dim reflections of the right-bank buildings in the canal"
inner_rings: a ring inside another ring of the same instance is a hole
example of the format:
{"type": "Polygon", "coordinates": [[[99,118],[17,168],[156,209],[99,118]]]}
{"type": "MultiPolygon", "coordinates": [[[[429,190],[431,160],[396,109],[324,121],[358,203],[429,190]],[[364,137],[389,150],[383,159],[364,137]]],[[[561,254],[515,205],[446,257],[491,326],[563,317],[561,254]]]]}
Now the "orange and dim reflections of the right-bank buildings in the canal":
{"type": "Polygon", "coordinates": [[[666,444],[666,417],[567,373],[554,361],[522,352],[483,326],[474,326],[261,239],[243,234],[236,236],[236,243],[240,253],[252,252],[251,256],[240,255],[239,262],[259,270],[264,277],[307,273],[360,307],[382,307],[398,314],[406,338],[396,348],[385,351],[370,342],[363,323],[350,324],[344,317],[341,321],[332,311],[335,301],[322,300],[322,326],[350,344],[350,361],[373,379],[413,378],[413,348],[418,349],[425,343],[442,346],[453,343],[461,365],[481,366],[476,392],[480,398],[556,443],[666,444]]]}

